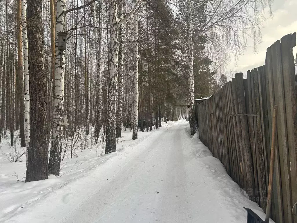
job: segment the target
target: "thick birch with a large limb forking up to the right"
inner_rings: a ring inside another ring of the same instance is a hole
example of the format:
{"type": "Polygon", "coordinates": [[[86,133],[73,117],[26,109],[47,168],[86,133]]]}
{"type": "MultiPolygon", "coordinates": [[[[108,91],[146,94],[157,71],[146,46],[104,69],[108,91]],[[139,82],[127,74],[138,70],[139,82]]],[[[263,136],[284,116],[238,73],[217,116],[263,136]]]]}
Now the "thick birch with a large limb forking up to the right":
{"type": "Polygon", "coordinates": [[[115,0],[109,0],[109,25],[110,25],[110,52],[109,52],[109,84],[107,104],[107,125],[105,153],[116,151],[116,94],[118,84],[118,59],[119,59],[119,26],[132,18],[140,2],[138,0],[133,9],[127,14],[117,17],[118,9],[115,0]]]}

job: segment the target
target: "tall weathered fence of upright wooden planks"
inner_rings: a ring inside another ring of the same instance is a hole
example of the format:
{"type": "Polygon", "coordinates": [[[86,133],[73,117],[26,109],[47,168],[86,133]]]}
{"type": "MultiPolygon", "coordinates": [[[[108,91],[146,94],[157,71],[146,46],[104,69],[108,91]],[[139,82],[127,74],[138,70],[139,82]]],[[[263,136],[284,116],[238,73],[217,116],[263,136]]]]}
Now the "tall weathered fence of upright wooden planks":
{"type": "Polygon", "coordinates": [[[200,140],[266,211],[273,106],[278,106],[271,218],[297,222],[297,108],[292,48],[296,33],[268,47],[265,65],[242,73],[196,106],[200,140]]]}

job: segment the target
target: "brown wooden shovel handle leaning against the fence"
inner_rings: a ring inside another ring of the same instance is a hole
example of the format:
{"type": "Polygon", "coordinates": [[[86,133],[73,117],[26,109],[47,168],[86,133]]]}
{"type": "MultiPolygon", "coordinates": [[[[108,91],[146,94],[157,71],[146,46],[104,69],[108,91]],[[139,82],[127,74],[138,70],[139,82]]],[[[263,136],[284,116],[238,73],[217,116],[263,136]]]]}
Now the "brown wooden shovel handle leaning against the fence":
{"type": "Polygon", "coordinates": [[[272,139],[271,139],[271,150],[270,150],[270,170],[269,170],[269,184],[268,184],[268,194],[267,194],[267,206],[266,206],[266,219],[265,222],[269,222],[270,208],[271,208],[271,194],[272,194],[272,181],[274,172],[274,157],[275,157],[275,140],[277,134],[277,105],[273,109],[272,118],[272,139]]]}

